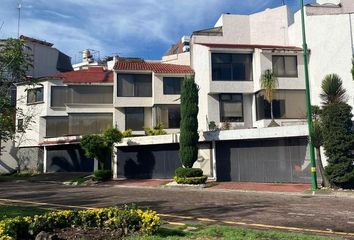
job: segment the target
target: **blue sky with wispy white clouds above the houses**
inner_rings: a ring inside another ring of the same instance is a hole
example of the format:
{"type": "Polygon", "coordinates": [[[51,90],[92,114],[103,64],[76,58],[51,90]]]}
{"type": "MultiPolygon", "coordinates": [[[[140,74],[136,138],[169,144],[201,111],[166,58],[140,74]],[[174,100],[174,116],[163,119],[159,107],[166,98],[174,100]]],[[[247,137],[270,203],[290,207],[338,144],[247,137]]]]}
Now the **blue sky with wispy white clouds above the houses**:
{"type": "MultiPolygon", "coordinates": [[[[0,38],[45,40],[79,62],[80,51],[161,59],[183,35],[213,27],[223,13],[250,14],[299,0],[0,0],[0,38]]],[[[305,3],[314,0],[305,0],[305,3]]],[[[98,56],[98,55],[96,55],[98,56]]]]}

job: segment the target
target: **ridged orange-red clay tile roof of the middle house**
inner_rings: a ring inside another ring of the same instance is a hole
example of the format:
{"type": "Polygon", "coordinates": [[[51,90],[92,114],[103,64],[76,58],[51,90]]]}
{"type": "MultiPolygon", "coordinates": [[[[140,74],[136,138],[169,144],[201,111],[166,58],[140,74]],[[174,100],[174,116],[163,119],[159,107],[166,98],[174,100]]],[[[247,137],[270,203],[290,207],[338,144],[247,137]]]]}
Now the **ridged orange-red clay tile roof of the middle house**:
{"type": "Polygon", "coordinates": [[[190,66],[156,62],[116,62],[114,70],[151,71],[154,73],[193,74],[190,66]]]}

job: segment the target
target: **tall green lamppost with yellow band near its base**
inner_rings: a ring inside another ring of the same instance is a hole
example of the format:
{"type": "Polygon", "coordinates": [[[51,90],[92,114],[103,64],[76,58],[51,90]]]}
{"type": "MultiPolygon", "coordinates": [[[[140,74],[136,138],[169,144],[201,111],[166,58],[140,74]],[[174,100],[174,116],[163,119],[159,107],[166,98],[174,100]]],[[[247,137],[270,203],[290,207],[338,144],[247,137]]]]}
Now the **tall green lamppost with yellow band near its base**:
{"type": "Polygon", "coordinates": [[[311,140],[312,112],[311,112],[311,96],[310,96],[310,83],[309,83],[310,81],[309,81],[309,69],[308,69],[308,49],[306,43],[304,0],[300,0],[300,4],[301,4],[302,42],[303,42],[303,50],[304,50],[304,68],[305,68],[305,83],[306,83],[307,126],[309,131],[309,147],[310,147],[310,159],[311,159],[311,186],[312,186],[312,190],[314,191],[317,189],[317,174],[316,174],[315,148],[311,140]]]}

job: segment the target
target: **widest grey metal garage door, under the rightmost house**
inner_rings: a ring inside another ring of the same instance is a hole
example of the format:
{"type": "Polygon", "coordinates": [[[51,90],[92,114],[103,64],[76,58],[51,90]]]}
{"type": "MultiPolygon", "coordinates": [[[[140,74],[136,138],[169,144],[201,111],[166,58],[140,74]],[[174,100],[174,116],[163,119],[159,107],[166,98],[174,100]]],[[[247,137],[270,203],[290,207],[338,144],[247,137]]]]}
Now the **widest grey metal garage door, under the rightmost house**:
{"type": "Polygon", "coordinates": [[[219,141],[219,181],[310,182],[306,138],[219,141]]]}

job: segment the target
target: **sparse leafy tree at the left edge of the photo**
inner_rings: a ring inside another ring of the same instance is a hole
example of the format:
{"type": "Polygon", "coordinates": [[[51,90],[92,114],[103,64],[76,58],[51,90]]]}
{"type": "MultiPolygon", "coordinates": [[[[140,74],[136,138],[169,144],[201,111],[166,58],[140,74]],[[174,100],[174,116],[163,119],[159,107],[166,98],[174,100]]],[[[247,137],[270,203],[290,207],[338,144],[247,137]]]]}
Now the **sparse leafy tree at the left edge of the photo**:
{"type": "MultiPolygon", "coordinates": [[[[11,101],[11,90],[16,88],[16,83],[28,81],[32,84],[34,82],[34,79],[26,77],[27,70],[32,66],[32,57],[26,48],[23,40],[12,38],[1,42],[0,45],[0,153],[1,142],[14,138],[15,114],[21,113],[16,108],[16,104],[11,101]]],[[[24,117],[30,121],[28,116],[24,117]]],[[[28,124],[24,124],[26,125],[28,124]]],[[[25,128],[20,130],[25,131],[25,128]]]]}

